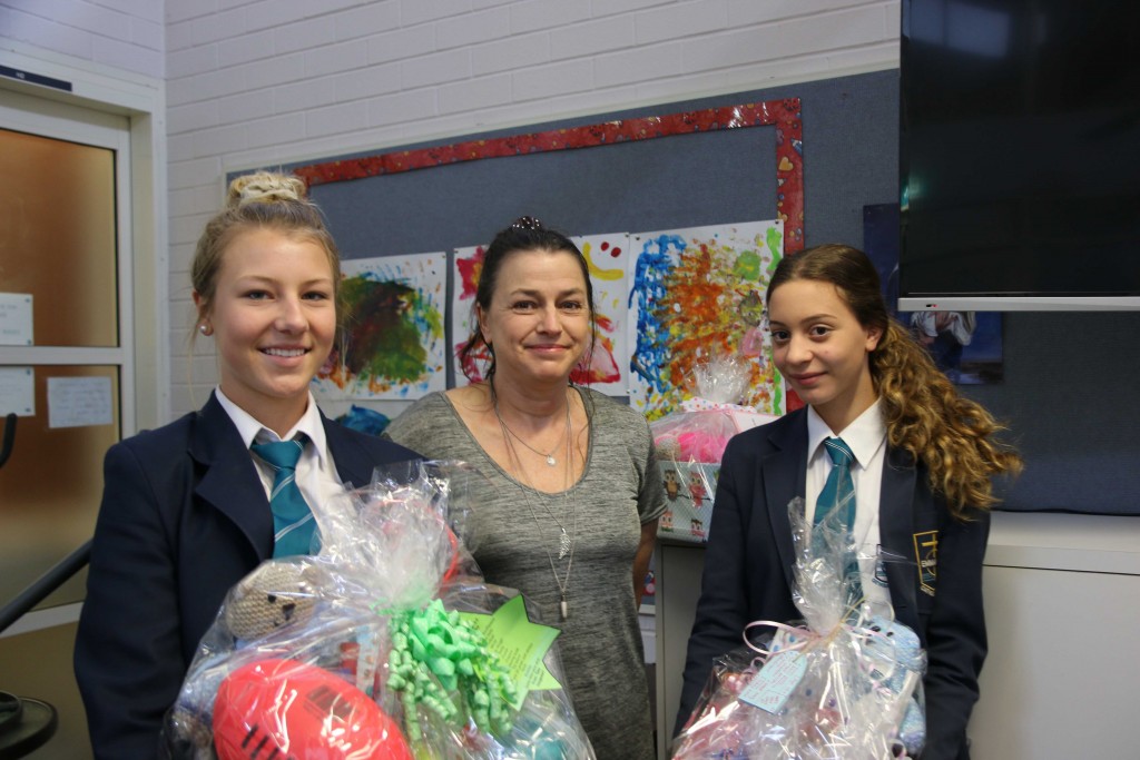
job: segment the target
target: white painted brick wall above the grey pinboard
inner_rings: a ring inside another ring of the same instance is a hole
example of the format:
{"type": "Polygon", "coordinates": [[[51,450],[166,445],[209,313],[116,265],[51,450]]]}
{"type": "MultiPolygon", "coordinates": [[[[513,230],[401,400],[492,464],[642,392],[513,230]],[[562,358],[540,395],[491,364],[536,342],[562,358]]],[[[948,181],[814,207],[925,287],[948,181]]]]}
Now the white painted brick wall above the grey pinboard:
{"type": "MultiPolygon", "coordinates": [[[[0,0],[0,36],[166,80],[172,409],[227,171],[897,66],[898,0],[0,0]]],[[[187,371],[193,367],[193,371],[187,371]]]]}

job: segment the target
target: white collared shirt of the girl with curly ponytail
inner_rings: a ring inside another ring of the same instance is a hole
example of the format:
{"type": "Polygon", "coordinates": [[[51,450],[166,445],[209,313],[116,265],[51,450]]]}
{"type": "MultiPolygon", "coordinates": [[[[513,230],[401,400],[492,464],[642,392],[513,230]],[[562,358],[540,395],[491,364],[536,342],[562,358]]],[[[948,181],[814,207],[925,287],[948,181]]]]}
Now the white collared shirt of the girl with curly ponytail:
{"type": "Polygon", "coordinates": [[[882,467],[887,456],[887,426],[876,401],[842,431],[832,432],[811,407],[807,410],[807,483],[805,508],[808,524],[815,515],[815,501],[831,472],[831,457],[824,450],[828,438],[841,438],[855,455],[852,480],[855,483],[855,540],[860,546],[863,593],[869,602],[890,602],[887,579],[879,555],[879,497],[882,467]]]}

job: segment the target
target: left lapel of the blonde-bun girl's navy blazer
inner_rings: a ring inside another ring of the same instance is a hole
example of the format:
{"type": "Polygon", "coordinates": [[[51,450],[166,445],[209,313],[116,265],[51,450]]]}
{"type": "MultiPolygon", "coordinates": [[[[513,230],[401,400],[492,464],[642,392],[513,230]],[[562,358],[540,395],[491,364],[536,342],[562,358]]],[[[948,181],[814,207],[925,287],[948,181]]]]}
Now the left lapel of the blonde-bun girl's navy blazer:
{"type": "Polygon", "coordinates": [[[205,471],[195,493],[233,521],[260,558],[269,557],[274,537],[269,500],[237,428],[213,394],[198,412],[190,456],[205,471]]]}

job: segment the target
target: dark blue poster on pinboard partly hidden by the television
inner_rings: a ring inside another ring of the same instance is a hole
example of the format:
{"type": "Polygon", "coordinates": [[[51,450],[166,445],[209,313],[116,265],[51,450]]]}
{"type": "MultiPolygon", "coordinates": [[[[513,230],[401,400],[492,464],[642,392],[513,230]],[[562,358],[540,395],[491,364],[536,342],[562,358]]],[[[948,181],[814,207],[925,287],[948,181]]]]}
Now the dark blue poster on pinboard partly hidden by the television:
{"type": "Polygon", "coordinates": [[[951,382],[1000,383],[1004,375],[1000,312],[898,311],[898,232],[897,203],[863,206],[863,251],[879,270],[887,308],[951,382]]]}

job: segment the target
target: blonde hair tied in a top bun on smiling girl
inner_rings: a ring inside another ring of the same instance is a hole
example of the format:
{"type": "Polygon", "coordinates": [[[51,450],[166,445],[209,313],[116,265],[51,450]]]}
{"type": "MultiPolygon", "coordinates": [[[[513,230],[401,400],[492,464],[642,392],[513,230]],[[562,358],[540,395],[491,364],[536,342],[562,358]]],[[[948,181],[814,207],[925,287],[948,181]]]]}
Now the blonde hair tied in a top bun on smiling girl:
{"type": "MultiPolygon", "coordinates": [[[[213,307],[226,247],[237,235],[252,229],[271,229],[319,245],[333,270],[334,294],[340,294],[340,252],[320,210],[307,195],[304,181],[291,174],[255,172],[229,183],[226,209],[206,222],[190,264],[190,283],[202,299],[199,318],[213,307]]],[[[339,317],[341,312],[337,299],[339,317]]]]}

